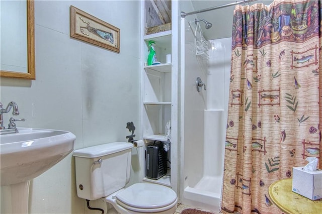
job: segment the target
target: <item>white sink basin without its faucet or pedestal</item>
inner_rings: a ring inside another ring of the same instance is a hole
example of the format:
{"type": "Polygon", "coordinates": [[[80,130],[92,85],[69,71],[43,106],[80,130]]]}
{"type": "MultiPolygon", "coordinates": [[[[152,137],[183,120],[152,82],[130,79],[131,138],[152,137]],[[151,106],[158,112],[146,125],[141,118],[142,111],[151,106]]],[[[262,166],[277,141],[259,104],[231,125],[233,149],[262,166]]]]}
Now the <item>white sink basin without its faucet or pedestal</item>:
{"type": "Polygon", "coordinates": [[[18,128],[0,135],[1,185],[21,183],[41,175],[74,148],[75,136],[67,131],[18,128]]]}

